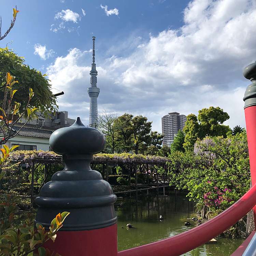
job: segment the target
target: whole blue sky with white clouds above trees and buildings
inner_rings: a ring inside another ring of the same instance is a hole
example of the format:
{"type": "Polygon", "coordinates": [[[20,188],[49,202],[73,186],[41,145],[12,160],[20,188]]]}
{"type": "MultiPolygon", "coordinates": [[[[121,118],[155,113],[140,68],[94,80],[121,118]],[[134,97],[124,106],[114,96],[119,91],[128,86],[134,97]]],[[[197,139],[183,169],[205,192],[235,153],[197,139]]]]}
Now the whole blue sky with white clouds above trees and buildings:
{"type": "Polygon", "coordinates": [[[89,117],[91,37],[96,37],[99,114],[143,114],[161,131],[168,112],[220,106],[244,126],[242,76],[256,58],[253,0],[1,1],[0,42],[49,75],[59,110],[89,117]],[[3,12],[4,10],[4,12],[3,12]]]}

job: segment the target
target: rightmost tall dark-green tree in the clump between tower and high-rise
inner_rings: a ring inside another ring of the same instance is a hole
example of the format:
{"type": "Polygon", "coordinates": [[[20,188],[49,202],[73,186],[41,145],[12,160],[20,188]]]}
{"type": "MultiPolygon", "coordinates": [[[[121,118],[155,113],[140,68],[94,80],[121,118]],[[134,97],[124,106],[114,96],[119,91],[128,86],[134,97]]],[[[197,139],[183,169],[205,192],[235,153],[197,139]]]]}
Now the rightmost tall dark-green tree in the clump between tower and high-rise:
{"type": "MultiPolygon", "coordinates": [[[[148,143],[150,139],[152,122],[147,122],[145,116],[139,115],[132,118],[132,133],[135,154],[139,153],[139,145],[148,143]]],[[[156,141],[155,141],[156,142],[156,141]]]]}

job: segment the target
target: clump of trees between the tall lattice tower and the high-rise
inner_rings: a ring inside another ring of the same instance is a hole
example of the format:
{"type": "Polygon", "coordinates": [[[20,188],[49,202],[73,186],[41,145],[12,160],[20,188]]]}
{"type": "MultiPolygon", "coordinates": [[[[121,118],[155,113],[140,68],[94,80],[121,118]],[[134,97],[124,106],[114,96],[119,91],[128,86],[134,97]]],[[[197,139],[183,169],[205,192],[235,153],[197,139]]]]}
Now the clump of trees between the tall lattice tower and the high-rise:
{"type": "Polygon", "coordinates": [[[103,112],[99,116],[99,129],[105,134],[105,153],[123,153],[155,155],[161,148],[162,134],[151,131],[152,122],[142,115],[103,112]]]}

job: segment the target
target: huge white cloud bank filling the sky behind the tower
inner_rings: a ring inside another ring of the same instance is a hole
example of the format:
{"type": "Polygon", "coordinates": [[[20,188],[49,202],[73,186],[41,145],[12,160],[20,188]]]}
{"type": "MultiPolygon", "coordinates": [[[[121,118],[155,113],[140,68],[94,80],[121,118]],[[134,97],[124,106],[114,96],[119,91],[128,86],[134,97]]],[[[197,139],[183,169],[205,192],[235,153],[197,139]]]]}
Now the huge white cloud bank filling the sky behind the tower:
{"type": "MultiPolygon", "coordinates": [[[[161,131],[161,116],[173,111],[197,114],[212,105],[229,113],[231,127],[245,126],[242,98],[250,81],[243,78],[242,68],[256,56],[255,17],[254,0],[194,0],[184,10],[181,28],[150,34],[143,47],[139,39],[136,44],[126,38],[116,42],[123,49],[133,46],[130,54],[110,47],[112,57],[97,67],[99,113],[143,114],[161,131]]],[[[53,87],[65,90],[60,103],[71,104],[70,115],[84,120],[89,115],[91,63],[86,56],[72,49],[47,69],[53,87]]]]}

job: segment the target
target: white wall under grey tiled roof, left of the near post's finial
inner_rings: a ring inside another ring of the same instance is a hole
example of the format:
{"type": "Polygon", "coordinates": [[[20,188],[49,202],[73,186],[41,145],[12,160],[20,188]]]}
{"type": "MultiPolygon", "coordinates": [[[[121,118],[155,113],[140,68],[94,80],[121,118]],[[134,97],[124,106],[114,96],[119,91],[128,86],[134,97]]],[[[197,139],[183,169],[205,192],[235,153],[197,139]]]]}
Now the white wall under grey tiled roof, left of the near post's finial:
{"type": "Polygon", "coordinates": [[[6,145],[11,147],[12,144],[16,145],[32,145],[37,146],[37,150],[48,151],[49,150],[49,139],[45,138],[35,138],[35,137],[23,137],[23,136],[15,136],[10,139],[6,145]]]}

